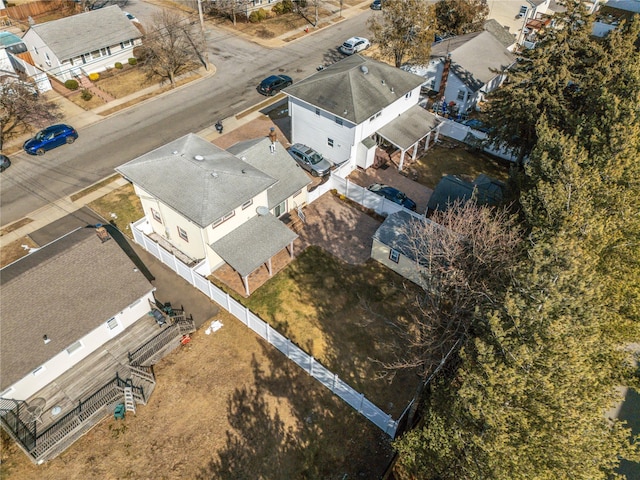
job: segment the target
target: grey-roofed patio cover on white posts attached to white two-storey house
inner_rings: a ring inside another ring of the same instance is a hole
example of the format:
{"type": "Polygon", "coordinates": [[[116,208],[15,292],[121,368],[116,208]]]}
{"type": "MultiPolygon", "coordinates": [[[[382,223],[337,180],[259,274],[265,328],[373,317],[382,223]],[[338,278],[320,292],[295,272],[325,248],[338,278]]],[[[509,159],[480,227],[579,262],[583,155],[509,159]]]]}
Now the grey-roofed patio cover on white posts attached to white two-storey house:
{"type": "Polygon", "coordinates": [[[425,140],[423,151],[426,152],[429,148],[431,134],[434,131],[434,141],[438,141],[440,120],[420,105],[414,105],[376,133],[400,150],[398,170],[402,170],[405,153],[411,150],[411,158],[415,158],[422,140],[425,140]]]}

